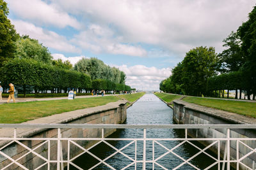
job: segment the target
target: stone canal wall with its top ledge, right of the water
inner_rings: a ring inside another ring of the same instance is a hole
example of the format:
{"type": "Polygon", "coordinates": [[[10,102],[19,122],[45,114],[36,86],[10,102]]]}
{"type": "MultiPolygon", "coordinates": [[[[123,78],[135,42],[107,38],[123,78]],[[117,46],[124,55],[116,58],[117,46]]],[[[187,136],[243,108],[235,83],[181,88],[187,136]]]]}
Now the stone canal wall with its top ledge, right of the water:
{"type": "MultiPolygon", "coordinates": [[[[207,108],[180,100],[173,101],[173,104],[173,120],[177,124],[256,124],[255,118],[236,113],[207,108]]],[[[226,129],[188,129],[188,135],[192,138],[227,138],[226,134],[226,129]]],[[[256,138],[256,131],[255,129],[230,129],[230,138],[256,138]]],[[[199,142],[205,146],[210,144],[209,141],[199,142]]],[[[256,148],[256,141],[243,141],[243,143],[253,149],[256,148]]],[[[230,160],[237,157],[236,145],[236,141],[230,141],[230,160]]],[[[225,146],[226,142],[222,141],[220,143],[222,157],[225,153],[225,146]]],[[[212,152],[218,152],[217,147],[217,145],[211,147],[212,152]]],[[[239,144],[239,158],[251,151],[247,146],[239,144]]],[[[256,153],[249,155],[241,162],[253,168],[253,165],[256,166],[256,153]]],[[[236,164],[230,165],[236,167],[236,164]]],[[[244,166],[240,168],[247,169],[244,166]]]]}

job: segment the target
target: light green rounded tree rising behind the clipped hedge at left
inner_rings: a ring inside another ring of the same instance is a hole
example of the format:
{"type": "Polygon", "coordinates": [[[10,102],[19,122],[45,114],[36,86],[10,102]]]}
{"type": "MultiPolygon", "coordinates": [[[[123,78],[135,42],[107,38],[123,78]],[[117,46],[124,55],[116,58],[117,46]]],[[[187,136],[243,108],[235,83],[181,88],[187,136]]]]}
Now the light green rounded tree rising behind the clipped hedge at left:
{"type": "Polygon", "coordinates": [[[48,64],[52,62],[52,56],[47,47],[38,43],[36,39],[31,39],[29,36],[22,36],[17,40],[16,45],[17,52],[15,53],[15,57],[20,59],[34,59],[48,64]]]}

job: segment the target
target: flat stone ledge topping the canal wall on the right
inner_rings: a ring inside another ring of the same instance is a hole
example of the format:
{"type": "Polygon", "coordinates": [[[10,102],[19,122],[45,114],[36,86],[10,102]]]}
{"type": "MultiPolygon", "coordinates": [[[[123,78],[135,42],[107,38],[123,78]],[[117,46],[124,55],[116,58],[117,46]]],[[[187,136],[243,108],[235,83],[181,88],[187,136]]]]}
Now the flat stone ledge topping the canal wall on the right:
{"type": "Polygon", "coordinates": [[[173,103],[181,104],[184,106],[184,108],[188,108],[189,110],[195,110],[201,113],[205,113],[207,115],[211,115],[212,117],[221,118],[234,124],[256,124],[256,118],[246,117],[244,115],[239,115],[237,113],[230,113],[228,111],[208,108],[205,106],[188,103],[186,101],[181,100],[174,100],[173,103]]]}

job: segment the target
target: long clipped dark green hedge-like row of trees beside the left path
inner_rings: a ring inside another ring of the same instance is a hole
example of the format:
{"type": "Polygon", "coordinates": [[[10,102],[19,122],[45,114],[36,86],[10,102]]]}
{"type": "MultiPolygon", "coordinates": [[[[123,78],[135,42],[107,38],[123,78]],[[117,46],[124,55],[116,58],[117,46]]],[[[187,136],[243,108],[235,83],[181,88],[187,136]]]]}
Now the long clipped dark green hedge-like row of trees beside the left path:
{"type": "Polygon", "coordinates": [[[33,86],[35,90],[67,89],[68,87],[90,89],[92,87],[91,78],[87,74],[50,66],[33,59],[9,60],[0,71],[5,86],[12,82],[22,86],[24,92],[28,85],[33,86]]]}

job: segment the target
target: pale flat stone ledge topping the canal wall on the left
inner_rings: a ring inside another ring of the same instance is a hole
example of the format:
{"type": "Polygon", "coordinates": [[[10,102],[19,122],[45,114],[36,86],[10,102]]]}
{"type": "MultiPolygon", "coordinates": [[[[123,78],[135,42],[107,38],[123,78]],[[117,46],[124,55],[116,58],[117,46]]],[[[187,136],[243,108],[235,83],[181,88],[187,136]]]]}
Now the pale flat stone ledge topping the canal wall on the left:
{"type": "MultiPolygon", "coordinates": [[[[127,101],[119,100],[113,103],[108,103],[102,106],[96,106],[93,108],[85,108],[82,110],[74,110],[65,113],[60,113],[56,115],[51,115],[49,117],[37,118],[35,120],[29,120],[28,122],[23,122],[22,124],[67,124],[73,120],[77,120],[82,117],[87,117],[95,113],[100,113],[103,111],[109,111],[119,108],[120,105],[125,105],[127,101]]],[[[28,138],[40,132],[47,130],[48,128],[28,128],[28,129],[17,129],[18,138],[28,138]]],[[[12,138],[13,129],[4,128],[0,129],[1,138],[12,138]]],[[[1,141],[0,146],[6,144],[6,141],[1,141]]]]}

